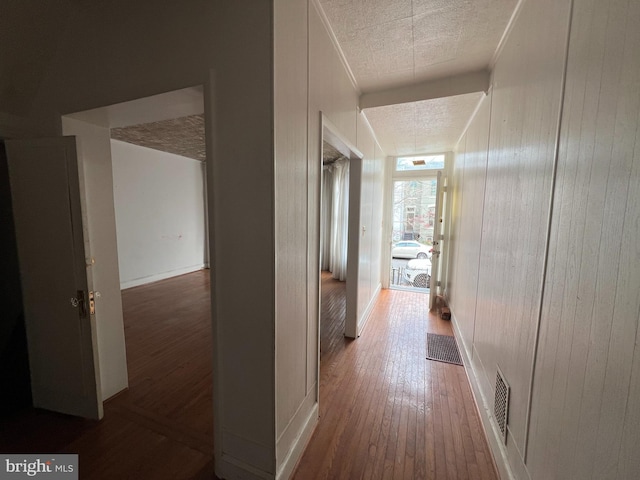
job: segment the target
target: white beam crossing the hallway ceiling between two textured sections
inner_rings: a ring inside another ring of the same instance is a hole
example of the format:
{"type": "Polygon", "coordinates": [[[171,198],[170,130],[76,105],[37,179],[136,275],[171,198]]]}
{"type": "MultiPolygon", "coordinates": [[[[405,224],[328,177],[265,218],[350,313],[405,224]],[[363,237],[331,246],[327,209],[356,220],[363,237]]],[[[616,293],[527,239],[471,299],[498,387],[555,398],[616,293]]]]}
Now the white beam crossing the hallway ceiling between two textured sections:
{"type": "Polygon", "coordinates": [[[360,109],[453,97],[465,93],[487,93],[490,85],[490,76],[488,70],[481,70],[428,80],[406,87],[363,93],[360,95],[360,109]]]}

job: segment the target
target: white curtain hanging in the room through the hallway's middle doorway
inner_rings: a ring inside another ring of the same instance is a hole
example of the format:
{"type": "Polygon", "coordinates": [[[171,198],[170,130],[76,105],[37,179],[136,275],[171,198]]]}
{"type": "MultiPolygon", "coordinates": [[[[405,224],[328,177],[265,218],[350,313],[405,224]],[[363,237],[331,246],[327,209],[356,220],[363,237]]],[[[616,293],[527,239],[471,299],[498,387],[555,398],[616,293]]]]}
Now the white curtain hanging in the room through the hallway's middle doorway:
{"type": "Polygon", "coordinates": [[[349,227],[349,161],[336,160],[330,166],[332,174],[331,233],[329,271],[333,278],[347,279],[347,246],[349,227]]]}

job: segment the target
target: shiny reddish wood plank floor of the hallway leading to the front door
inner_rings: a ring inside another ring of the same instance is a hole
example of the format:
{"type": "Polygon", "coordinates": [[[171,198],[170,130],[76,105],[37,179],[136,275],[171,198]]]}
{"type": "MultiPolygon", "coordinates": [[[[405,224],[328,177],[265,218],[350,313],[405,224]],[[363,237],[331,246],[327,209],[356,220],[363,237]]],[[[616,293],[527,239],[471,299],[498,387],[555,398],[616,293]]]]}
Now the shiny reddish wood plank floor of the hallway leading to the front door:
{"type": "Polygon", "coordinates": [[[428,297],[383,290],[358,340],[342,337],[344,283],[323,273],[320,423],[305,479],[497,479],[463,367],[426,360],[451,335],[428,297]]]}

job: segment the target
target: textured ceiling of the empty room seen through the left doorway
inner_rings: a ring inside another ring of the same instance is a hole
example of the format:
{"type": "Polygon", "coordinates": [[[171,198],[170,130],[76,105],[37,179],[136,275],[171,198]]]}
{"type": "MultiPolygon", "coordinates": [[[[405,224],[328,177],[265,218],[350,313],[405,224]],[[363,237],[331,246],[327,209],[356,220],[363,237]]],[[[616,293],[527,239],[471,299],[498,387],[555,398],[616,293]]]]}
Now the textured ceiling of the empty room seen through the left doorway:
{"type": "Polygon", "coordinates": [[[111,138],[205,161],[204,115],[112,128],[111,138]]]}

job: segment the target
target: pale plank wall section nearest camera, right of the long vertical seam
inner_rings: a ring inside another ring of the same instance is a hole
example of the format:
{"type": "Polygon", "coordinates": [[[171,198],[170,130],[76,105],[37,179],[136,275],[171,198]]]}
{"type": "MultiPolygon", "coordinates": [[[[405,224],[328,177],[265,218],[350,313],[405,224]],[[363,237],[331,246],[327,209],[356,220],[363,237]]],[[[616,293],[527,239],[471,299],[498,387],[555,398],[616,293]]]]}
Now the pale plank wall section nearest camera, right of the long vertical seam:
{"type": "Polygon", "coordinates": [[[640,3],[575,2],[532,410],[534,478],[638,478],[640,3]]]}

